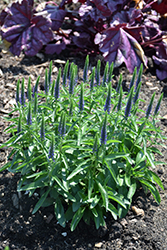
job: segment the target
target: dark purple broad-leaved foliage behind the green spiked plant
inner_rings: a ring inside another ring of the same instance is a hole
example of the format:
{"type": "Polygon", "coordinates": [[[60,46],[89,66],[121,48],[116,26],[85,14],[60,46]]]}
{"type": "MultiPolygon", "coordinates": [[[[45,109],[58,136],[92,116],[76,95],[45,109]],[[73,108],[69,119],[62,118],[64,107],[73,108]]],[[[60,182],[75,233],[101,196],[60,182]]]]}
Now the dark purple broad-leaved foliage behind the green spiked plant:
{"type": "Polygon", "coordinates": [[[1,36],[17,56],[21,51],[34,56],[43,48],[47,54],[69,49],[102,54],[115,67],[125,63],[131,73],[141,63],[147,68],[149,56],[163,80],[167,78],[167,21],[160,14],[167,11],[167,4],[142,3],[140,9],[132,0],[62,0],[59,5],[46,2],[39,11],[33,0],[21,0],[1,12],[1,36]]]}

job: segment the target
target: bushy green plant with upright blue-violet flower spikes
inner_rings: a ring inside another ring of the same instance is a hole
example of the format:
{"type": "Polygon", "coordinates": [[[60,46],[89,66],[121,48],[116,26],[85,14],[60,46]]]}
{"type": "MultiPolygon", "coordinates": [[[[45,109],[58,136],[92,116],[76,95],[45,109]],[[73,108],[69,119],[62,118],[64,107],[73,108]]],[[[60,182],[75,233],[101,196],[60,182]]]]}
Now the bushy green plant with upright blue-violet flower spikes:
{"type": "Polygon", "coordinates": [[[33,89],[29,79],[27,94],[24,79],[18,81],[17,104],[5,118],[12,122],[6,129],[12,136],[1,145],[12,149],[1,171],[21,174],[19,192],[40,193],[33,214],[54,205],[60,225],[70,221],[72,231],[81,219],[93,220],[98,229],[108,212],[114,219],[125,216],[140,186],[157,203],[156,184],[163,189],[151,170],[161,164],[154,153],[161,154],[156,145],[164,140],[156,126],[162,95],[151,112],[153,94],[144,112],[139,109],[142,65],[138,74],[135,68],[127,93],[121,75],[112,87],[113,64],[106,64],[102,79],[100,61],[90,76],[88,68],[87,57],[78,84],[76,65],[67,62],[52,80],[50,63],[43,92],[39,77],[33,89]],[[18,116],[11,118],[13,112],[18,116]]]}

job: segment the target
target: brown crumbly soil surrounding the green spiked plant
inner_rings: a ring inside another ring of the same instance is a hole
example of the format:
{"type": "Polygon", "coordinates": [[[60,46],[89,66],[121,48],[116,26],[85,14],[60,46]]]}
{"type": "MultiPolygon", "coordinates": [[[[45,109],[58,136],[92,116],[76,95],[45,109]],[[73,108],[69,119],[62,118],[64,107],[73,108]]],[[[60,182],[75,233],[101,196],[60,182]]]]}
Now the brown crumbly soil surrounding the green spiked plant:
{"type": "MultiPolygon", "coordinates": [[[[2,1],[0,1],[2,2],[2,1]]],[[[13,103],[15,103],[16,82],[25,78],[25,84],[29,76],[34,84],[36,77],[41,75],[40,86],[43,88],[45,69],[50,60],[53,61],[53,78],[56,77],[58,68],[64,66],[66,60],[74,62],[82,74],[83,58],[81,55],[45,56],[39,54],[33,58],[21,55],[19,58],[4,53],[0,47],[0,144],[5,142],[8,135],[4,133],[8,125],[2,117],[7,115],[13,103]]],[[[96,65],[97,58],[90,58],[91,66],[96,65]]],[[[125,67],[114,71],[114,84],[117,83],[119,74],[123,74],[123,84],[126,88],[130,82],[130,75],[125,67]]],[[[152,62],[142,76],[142,88],[140,97],[145,100],[142,108],[145,109],[153,92],[156,92],[156,100],[164,92],[160,114],[167,114],[167,83],[159,81],[155,75],[152,62]]],[[[167,119],[161,119],[159,126],[163,133],[167,133],[167,119]]],[[[167,142],[165,142],[167,146],[167,142]]],[[[167,161],[166,148],[161,148],[164,154],[160,160],[167,161]]],[[[6,161],[8,150],[0,149],[0,167],[6,161]]],[[[38,196],[28,197],[25,193],[17,193],[17,181],[19,174],[8,171],[0,172],[0,250],[5,246],[16,250],[64,250],[64,249],[130,249],[130,250],[167,250],[167,169],[166,165],[157,166],[154,171],[160,176],[165,190],[160,191],[161,204],[158,206],[150,193],[145,194],[138,190],[134,197],[133,206],[142,209],[142,215],[136,215],[131,208],[124,219],[113,221],[110,216],[106,218],[106,228],[98,231],[93,225],[79,224],[74,232],[70,231],[70,225],[62,228],[57,224],[53,207],[41,208],[35,215],[31,212],[38,196]]]]}

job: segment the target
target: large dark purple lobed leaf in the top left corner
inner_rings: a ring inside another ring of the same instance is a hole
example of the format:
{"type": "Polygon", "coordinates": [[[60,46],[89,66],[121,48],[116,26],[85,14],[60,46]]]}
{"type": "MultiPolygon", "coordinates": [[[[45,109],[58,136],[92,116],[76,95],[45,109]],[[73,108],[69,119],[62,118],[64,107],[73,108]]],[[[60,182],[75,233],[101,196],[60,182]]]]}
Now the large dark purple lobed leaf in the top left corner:
{"type": "Polygon", "coordinates": [[[24,50],[26,55],[34,56],[53,39],[50,27],[49,19],[35,15],[28,1],[22,0],[11,5],[1,27],[1,35],[12,44],[10,51],[14,55],[19,56],[24,50]]]}

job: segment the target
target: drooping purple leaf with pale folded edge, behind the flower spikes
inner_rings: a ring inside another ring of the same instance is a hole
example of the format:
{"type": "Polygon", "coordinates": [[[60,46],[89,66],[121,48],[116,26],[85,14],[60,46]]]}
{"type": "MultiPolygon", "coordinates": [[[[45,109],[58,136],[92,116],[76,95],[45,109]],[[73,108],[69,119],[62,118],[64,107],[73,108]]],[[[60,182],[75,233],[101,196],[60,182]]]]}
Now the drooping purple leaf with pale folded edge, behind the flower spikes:
{"type": "Polygon", "coordinates": [[[141,63],[147,65],[147,59],[137,40],[124,30],[124,24],[110,27],[103,33],[98,33],[95,43],[103,53],[106,61],[114,62],[116,67],[123,62],[131,73],[135,66],[141,63]]]}

